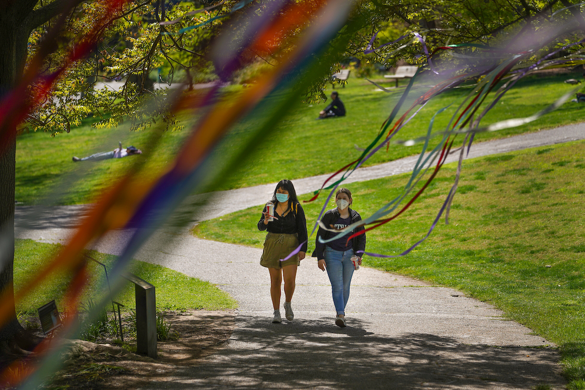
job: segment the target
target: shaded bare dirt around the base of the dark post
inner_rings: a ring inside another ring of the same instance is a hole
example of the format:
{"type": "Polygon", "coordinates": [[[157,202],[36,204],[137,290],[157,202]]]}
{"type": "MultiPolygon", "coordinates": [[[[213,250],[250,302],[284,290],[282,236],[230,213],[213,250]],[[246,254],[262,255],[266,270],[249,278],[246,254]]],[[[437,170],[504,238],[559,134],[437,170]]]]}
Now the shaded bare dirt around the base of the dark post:
{"type": "Polygon", "coordinates": [[[235,310],[194,310],[164,313],[177,340],[159,341],[155,360],[125,348],[90,341],[71,341],[66,367],[54,375],[47,389],[136,389],[166,378],[180,367],[201,364],[222,348],[235,328],[235,310]]]}

